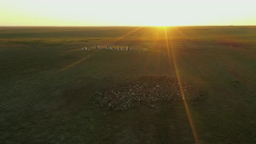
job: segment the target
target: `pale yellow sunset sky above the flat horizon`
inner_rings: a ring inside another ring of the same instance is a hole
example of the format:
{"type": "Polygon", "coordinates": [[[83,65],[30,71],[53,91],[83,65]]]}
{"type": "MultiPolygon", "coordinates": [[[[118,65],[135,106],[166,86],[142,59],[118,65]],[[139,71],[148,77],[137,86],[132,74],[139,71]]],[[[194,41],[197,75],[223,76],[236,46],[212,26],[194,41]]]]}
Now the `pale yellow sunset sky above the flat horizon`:
{"type": "Polygon", "coordinates": [[[0,26],[256,25],[256,0],[0,0],[0,26]]]}

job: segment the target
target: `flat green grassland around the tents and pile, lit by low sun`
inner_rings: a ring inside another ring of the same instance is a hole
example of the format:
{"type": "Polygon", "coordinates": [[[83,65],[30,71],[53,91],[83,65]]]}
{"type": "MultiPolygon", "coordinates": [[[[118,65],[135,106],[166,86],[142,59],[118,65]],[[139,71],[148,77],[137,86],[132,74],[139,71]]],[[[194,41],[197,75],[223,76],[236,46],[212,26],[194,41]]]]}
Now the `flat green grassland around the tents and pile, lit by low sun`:
{"type": "Polygon", "coordinates": [[[142,75],[207,91],[188,102],[201,144],[256,143],[256,26],[0,27],[0,143],[195,143],[183,101],[91,103],[142,75]],[[81,50],[107,44],[133,51],[81,50]]]}

